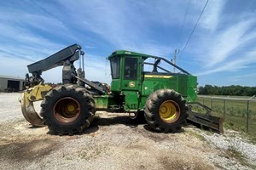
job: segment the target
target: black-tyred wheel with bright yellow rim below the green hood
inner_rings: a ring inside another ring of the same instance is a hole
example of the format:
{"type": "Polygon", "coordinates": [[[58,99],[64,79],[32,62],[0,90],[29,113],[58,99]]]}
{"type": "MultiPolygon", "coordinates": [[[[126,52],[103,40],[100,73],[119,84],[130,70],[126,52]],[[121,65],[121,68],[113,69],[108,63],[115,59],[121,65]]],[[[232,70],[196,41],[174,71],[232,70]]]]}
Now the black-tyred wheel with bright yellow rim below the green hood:
{"type": "Polygon", "coordinates": [[[163,133],[178,132],[187,117],[185,100],[171,89],[150,94],[144,107],[149,127],[163,133]]]}

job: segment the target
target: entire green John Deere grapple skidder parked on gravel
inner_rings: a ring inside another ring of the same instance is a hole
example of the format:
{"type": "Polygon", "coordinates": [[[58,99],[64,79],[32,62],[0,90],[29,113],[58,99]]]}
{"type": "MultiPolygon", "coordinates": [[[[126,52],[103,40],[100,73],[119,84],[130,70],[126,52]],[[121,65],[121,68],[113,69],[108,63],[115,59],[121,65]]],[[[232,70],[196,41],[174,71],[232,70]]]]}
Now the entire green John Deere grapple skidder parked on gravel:
{"type": "Polygon", "coordinates": [[[144,118],[148,126],[164,133],[175,133],[186,120],[223,132],[222,119],[211,116],[207,106],[195,103],[197,80],[171,61],[125,50],[108,56],[112,82],[91,82],[84,74],[84,52],[79,44],[27,65],[26,90],[21,95],[21,111],[32,126],[49,127],[55,134],[82,133],[90,127],[96,111],[129,112],[132,119],[144,118]],[[75,69],[80,59],[83,68],[75,69]],[[62,84],[44,84],[43,71],[63,65],[62,84]],[[33,102],[43,100],[40,116],[33,102]],[[198,104],[207,112],[192,111],[198,104]],[[132,115],[133,115],[132,114],[132,115]]]}

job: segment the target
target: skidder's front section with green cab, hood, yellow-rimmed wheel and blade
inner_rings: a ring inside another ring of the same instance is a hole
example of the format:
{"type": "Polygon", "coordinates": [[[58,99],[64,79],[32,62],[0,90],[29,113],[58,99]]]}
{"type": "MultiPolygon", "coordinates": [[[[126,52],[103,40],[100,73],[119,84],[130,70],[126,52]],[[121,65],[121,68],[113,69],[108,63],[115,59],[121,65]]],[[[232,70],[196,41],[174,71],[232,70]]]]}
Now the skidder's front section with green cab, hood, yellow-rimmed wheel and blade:
{"type": "Polygon", "coordinates": [[[179,131],[186,121],[223,132],[222,119],[197,101],[197,77],[171,61],[125,50],[108,56],[112,82],[108,95],[94,95],[96,110],[134,113],[164,133],[179,131]],[[206,112],[192,111],[199,105],[206,112]]]}

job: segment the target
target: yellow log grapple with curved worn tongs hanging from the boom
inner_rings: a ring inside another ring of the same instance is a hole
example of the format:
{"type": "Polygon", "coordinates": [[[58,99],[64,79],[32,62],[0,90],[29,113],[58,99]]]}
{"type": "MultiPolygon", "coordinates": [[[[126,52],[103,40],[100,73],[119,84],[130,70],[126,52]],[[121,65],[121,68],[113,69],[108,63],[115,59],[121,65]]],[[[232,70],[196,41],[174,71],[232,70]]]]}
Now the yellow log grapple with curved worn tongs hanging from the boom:
{"type": "Polygon", "coordinates": [[[23,116],[33,127],[44,127],[42,118],[35,111],[33,102],[44,99],[51,86],[39,83],[33,88],[26,89],[20,96],[20,105],[23,116]]]}

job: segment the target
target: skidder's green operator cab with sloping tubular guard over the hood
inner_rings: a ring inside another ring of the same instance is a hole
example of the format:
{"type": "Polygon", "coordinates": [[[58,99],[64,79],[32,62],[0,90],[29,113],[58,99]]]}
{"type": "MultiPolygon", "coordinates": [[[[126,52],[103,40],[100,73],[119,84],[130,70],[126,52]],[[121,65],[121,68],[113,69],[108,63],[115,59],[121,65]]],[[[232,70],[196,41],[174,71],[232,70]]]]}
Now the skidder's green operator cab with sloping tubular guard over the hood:
{"type": "Polygon", "coordinates": [[[141,91],[146,77],[161,78],[190,75],[188,71],[174,65],[169,60],[148,54],[119,50],[108,56],[108,59],[111,66],[111,91],[113,93],[121,93],[124,90],[141,91]],[[154,62],[147,62],[148,59],[150,61],[154,59],[154,62]],[[160,65],[161,63],[163,65],[160,65]],[[151,70],[145,71],[148,68],[151,68],[151,70]],[[173,68],[176,68],[178,73],[172,72],[173,68]]]}

